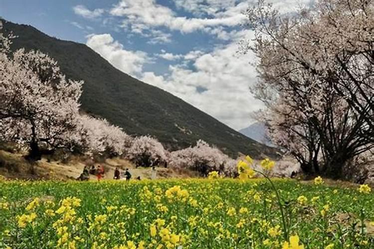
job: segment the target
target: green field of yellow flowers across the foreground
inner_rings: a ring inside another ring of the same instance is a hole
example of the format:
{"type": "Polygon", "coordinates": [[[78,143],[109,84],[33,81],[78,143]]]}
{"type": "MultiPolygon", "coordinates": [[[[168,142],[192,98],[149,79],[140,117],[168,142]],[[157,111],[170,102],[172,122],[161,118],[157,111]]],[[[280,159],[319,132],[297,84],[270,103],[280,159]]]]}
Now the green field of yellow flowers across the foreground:
{"type": "Polygon", "coordinates": [[[374,248],[369,186],[216,178],[3,181],[0,248],[374,248]]]}

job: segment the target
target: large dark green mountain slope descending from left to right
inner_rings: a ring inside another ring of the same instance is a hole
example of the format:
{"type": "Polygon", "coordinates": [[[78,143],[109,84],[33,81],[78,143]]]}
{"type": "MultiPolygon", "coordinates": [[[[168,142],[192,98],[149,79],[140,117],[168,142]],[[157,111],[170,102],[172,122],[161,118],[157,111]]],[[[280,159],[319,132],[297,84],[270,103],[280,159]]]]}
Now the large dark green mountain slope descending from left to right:
{"type": "Polygon", "coordinates": [[[11,31],[11,49],[37,49],[49,54],[67,77],[84,80],[81,97],[84,112],[107,119],[128,134],[150,134],[166,148],[188,147],[203,139],[236,157],[254,157],[276,151],[220,123],[180,98],[141,82],[114,68],[98,53],[72,41],[50,37],[30,25],[2,20],[4,33],[11,31]]]}

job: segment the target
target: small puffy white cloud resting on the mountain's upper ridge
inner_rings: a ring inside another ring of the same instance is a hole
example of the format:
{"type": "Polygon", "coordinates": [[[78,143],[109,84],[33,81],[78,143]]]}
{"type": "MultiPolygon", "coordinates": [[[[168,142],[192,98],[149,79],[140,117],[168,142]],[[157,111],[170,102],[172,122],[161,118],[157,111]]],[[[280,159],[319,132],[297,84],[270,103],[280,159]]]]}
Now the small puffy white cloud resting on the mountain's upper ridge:
{"type": "Polygon", "coordinates": [[[147,53],[126,50],[110,34],[91,34],[88,36],[86,45],[108,60],[114,67],[132,76],[139,75],[143,71],[143,64],[151,62],[147,53]]]}

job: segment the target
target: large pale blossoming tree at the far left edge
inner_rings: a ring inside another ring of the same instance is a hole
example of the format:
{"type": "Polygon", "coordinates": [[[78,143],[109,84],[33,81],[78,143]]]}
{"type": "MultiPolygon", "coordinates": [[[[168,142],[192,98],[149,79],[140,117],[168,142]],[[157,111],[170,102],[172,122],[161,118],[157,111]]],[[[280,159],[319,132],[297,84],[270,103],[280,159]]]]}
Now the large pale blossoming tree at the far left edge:
{"type": "Polygon", "coordinates": [[[9,55],[1,35],[0,132],[5,141],[29,148],[30,159],[43,150],[72,149],[79,141],[79,98],[82,82],[65,78],[57,63],[39,51],[20,49],[9,55]]]}

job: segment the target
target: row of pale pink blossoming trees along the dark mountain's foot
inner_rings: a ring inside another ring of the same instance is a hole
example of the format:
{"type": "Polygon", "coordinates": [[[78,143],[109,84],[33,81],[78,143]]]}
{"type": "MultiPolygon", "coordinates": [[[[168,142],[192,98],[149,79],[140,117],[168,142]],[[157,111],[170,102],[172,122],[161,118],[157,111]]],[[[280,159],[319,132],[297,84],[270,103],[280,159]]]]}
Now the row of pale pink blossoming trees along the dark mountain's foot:
{"type": "Polygon", "coordinates": [[[26,149],[28,159],[62,149],[122,156],[137,166],[233,173],[234,160],[204,141],[171,153],[151,136],[133,137],[106,120],[81,114],[82,81],[67,79],[48,55],[24,49],[11,53],[10,44],[0,32],[0,141],[26,149]]]}

